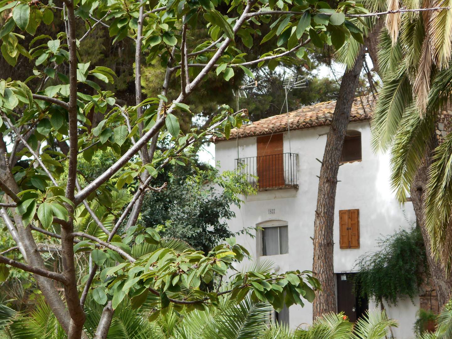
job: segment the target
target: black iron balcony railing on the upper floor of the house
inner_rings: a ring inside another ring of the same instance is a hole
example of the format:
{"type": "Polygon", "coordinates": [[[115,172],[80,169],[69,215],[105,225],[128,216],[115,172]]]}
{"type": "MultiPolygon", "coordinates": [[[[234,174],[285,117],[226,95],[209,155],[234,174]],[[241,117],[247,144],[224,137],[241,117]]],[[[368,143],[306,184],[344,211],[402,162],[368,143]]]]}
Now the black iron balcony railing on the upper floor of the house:
{"type": "Polygon", "coordinates": [[[298,188],[298,154],[280,153],[235,159],[241,174],[259,190],[298,188]]]}

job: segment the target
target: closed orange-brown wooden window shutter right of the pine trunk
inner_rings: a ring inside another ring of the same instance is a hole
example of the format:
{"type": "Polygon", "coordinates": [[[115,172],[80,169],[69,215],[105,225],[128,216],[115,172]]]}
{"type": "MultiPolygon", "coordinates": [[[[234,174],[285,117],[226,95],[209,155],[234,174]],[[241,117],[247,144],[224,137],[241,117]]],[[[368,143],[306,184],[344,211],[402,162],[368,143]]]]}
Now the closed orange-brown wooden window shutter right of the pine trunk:
{"type": "Polygon", "coordinates": [[[359,210],[339,211],[339,247],[359,248],[359,210]]]}

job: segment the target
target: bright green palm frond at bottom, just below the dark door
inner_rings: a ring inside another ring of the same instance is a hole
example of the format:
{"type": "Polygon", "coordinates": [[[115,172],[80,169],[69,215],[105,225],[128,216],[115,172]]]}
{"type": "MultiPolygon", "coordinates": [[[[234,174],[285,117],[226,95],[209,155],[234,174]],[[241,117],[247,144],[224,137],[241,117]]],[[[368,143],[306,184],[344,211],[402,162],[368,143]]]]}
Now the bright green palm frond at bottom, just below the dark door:
{"type": "Polygon", "coordinates": [[[382,339],[397,322],[388,319],[385,311],[367,311],[367,314],[356,322],[353,339],[382,339]]]}

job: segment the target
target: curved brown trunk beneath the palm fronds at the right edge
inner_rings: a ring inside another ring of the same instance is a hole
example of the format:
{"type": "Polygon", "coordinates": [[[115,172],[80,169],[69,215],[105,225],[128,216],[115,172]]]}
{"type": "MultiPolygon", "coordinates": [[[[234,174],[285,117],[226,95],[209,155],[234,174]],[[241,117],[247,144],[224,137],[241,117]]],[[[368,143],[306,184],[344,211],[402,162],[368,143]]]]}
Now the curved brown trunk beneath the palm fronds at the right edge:
{"type": "Polygon", "coordinates": [[[441,308],[449,300],[450,293],[452,291],[452,276],[450,273],[446,274],[441,263],[434,259],[430,244],[430,237],[424,223],[425,211],[423,193],[426,191],[428,182],[428,168],[432,163],[431,151],[437,145],[436,138],[433,137],[432,140],[433,141],[429,149],[425,152],[422,165],[419,166],[418,172],[416,173],[413,183],[411,184],[410,193],[411,200],[413,201],[414,213],[416,214],[416,220],[421,230],[422,237],[424,238],[428,268],[430,269],[430,275],[434,285],[433,287],[436,289],[438,295],[438,306],[441,308]]]}

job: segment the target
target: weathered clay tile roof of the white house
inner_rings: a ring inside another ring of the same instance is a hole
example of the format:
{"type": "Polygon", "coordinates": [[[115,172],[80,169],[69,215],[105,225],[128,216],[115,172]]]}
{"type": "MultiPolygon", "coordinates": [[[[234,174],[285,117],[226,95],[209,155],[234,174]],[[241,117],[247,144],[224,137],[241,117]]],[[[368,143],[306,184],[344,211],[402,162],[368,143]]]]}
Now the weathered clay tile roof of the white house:
{"type": "MultiPolygon", "coordinates": [[[[329,126],[333,118],[336,101],[304,106],[296,111],[289,112],[290,130],[310,127],[329,126]]],[[[350,113],[350,122],[369,120],[372,117],[372,98],[355,98],[350,113]]],[[[287,113],[261,119],[239,128],[238,138],[262,136],[287,131],[287,113]]],[[[237,129],[231,130],[229,139],[237,138],[237,129]]],[[[214,142],[225,141],[225,137],[215,137],[214,142]]]]}

